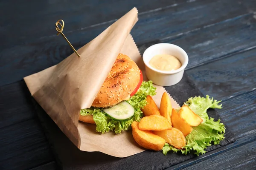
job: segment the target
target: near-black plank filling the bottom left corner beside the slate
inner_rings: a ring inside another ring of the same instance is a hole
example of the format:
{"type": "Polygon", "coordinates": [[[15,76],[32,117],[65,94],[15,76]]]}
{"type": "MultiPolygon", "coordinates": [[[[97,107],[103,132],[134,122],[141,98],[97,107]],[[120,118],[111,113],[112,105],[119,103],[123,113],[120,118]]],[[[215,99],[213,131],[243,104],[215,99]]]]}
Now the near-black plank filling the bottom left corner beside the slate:
{"type": "Polygon", "coordinates": [[[0,139],[1,170],[29,169],[54,160],[37,119],[1,128],[0,139]]]}

